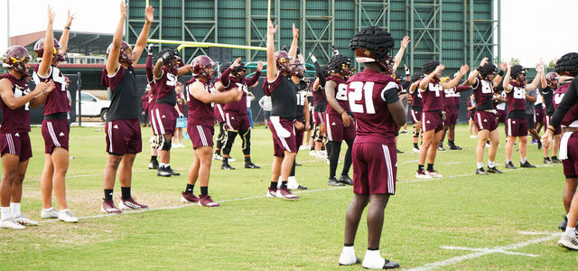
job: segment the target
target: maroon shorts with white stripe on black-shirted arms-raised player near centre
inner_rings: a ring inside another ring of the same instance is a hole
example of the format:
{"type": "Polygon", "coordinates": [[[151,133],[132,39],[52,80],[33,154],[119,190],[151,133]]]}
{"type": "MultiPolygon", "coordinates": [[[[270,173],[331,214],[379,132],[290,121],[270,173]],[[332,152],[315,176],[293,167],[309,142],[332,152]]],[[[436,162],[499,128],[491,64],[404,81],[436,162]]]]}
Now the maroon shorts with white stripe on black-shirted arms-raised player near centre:
{"type": "Polygon", "coordinates": [[[297,141],[293,122],[283,117],[271,116],[269,129],[273,135],[273,150],[277,157],[284,157],[284,152],[296,153],[297,141]]]}

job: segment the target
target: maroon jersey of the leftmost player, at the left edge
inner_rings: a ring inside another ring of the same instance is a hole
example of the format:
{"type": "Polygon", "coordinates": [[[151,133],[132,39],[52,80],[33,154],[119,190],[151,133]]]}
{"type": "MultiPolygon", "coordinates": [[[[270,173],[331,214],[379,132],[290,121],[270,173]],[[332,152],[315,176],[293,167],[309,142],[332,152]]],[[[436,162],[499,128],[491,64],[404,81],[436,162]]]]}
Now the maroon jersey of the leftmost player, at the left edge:
{"type": "MultiPolygon", "coordinates": [[[[23,97],[30,93],[30,89],[28,89],[28,82],[26,82],[25,79],[15,79],[14,76],[9,73],[0,75],[0,79],[10,80],[12,83],[14,98],[23,97]]],[[[0,132],[5,134],[30,132],[29,103],[26,103],[23,107],[18,107],[13,110],[6,106],[4,100],[0,98],[0,107],[2,108],[3,116],[0,132]]]]}

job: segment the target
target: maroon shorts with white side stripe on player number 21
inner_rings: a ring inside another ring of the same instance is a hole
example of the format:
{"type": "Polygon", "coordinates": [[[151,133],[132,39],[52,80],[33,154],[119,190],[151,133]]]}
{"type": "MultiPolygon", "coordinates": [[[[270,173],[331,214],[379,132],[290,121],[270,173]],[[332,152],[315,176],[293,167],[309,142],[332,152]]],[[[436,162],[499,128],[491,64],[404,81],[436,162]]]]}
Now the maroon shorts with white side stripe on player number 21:
{"type": "Polygon", "coordinates": [[[353,192],[362,195],[396,194],[396,146],[354,143],[353,192]]]}

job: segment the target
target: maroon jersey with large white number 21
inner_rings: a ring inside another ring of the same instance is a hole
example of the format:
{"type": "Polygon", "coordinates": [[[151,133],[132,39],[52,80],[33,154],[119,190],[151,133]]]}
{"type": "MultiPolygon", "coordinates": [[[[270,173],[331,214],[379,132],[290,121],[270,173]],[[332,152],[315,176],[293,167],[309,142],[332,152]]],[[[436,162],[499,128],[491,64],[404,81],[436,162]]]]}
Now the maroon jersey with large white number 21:
{"type": "MultiPolygon", "coordinates": [[[[376,70],[364,70],[348,80],[347,95],[356,121],[356,143],[372,142],[381,145],[396,145],[399,130],[389,113],[385,92],[402,89],[391,76],[376,70]]],[[[399,100],[396,97],[396,100],[399,100]]]]}

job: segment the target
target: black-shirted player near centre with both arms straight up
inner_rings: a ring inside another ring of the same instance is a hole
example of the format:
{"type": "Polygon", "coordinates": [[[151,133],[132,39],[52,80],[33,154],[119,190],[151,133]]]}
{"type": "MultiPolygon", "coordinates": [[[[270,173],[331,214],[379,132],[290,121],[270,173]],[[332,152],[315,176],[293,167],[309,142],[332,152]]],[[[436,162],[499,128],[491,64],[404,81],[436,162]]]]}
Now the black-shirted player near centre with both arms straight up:
{"type": "Polygon", "coordinates": [[[289,173],[297,154],[295,141],[294,120],[297,111],[297,86],[291,79],[290,55],[297,51],[299,29],[293,25],[293,42],[290,53],[275,51],[275,33],[278,25],[271,20],[267,23],[267,73],[263,92],[271,96],[272,111],[269,118],[269,128],[273,135],[274,155],[271,167],[271,184],[267,188],[267,197],[297,200],[299,196],[287,189],[289,173]],[[277,189],[277,182],[281,176],[281,187],[277,189]]]}

